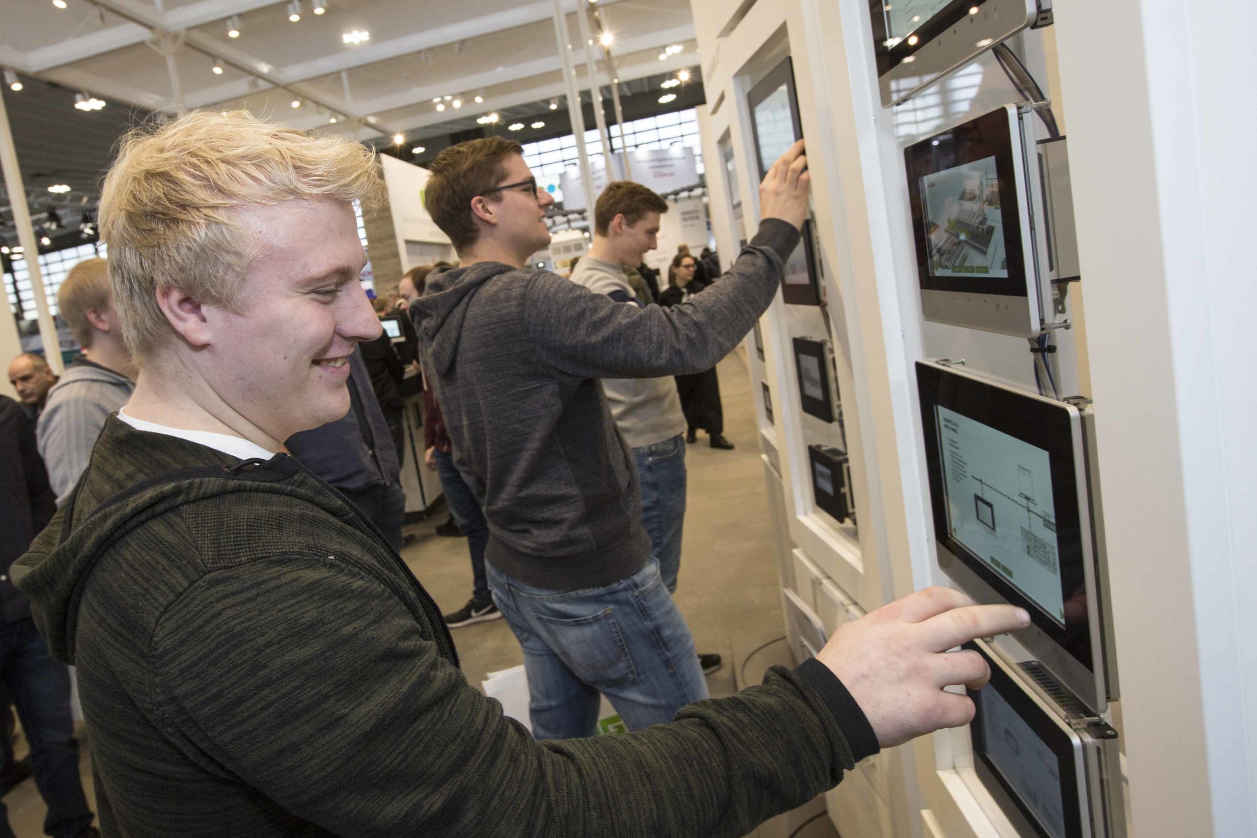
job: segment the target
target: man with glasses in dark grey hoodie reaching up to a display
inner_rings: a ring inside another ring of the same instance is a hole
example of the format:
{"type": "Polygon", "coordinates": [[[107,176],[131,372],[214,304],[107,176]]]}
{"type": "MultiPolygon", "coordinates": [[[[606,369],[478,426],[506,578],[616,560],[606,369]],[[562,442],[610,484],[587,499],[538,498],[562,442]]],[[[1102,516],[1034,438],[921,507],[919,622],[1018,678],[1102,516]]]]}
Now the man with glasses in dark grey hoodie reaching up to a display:
{"type": "Polygon", "coordinates": [[[798,143],[764,178],[764,221],[729,274],[664,309],[524,269],[549,241],[552,199],[518,143],[478,139],[432,161],[425,205],[460,268],[429,274],[411,312],[455,465],[483,501],[489,587],[524,651],[538,739],[595,732],[600,692],[631,730],[708,695],[600,379],[699,372],[733,349],[798,245],[806,166],[798,143]]]}

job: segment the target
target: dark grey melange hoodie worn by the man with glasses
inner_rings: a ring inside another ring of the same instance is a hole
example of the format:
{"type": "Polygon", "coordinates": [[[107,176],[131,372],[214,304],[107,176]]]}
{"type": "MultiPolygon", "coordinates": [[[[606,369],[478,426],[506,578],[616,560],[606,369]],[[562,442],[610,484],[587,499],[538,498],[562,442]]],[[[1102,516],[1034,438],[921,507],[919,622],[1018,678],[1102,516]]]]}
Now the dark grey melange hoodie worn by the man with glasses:
{"type": "Polygon", "coordinates": [[[798,239],[764,220],[719,283],[670,309],[499,263],[429,275],[411,315],[495,568],[552,590],[641,569],[650,539],[637,470],[598,379],[714,367],[772,303],[798,239]]]}

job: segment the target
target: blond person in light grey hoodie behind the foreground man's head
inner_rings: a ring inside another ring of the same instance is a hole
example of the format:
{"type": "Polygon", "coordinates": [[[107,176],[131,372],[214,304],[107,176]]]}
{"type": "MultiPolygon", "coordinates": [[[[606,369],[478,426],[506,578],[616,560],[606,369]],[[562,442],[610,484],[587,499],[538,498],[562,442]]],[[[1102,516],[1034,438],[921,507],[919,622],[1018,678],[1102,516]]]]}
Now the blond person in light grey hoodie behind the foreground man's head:
{"type": "Polygon", "coordinates": [[[106,418],[131,398],[136,367],[127,352],[104,259],[74,265],[57,293],[57,307],[82,347],[70,368],[48,391],[36,432],[39,454],[60,505],[87,469],[106,418]]]}

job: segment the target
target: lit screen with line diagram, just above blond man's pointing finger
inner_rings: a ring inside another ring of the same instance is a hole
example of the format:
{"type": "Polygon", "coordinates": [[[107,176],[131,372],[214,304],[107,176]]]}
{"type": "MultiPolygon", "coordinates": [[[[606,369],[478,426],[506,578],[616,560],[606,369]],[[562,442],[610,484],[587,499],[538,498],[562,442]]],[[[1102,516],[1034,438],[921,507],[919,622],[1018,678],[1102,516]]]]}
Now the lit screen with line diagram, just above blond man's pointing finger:
{"type": "Polygon", "coordinates": [[[936,407],[952,538],[1065,626],[1047,451],[936,407]]]}

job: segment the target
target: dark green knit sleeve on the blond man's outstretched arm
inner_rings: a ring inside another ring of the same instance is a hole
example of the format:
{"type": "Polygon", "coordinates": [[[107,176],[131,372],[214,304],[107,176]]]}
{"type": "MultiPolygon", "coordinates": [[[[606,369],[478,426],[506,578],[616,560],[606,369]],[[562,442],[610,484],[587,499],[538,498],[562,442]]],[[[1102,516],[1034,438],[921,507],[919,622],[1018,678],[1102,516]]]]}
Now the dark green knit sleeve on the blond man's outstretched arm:
{"type": "Polygon", "coordinates": [[[806,665],[667,725],[537,743],[385,585],[333,564],[214,574],[167,611],[153,660],[173,736],[337,834],[733,838],[876,750],[806,665]]]}

